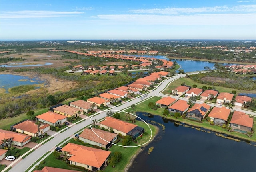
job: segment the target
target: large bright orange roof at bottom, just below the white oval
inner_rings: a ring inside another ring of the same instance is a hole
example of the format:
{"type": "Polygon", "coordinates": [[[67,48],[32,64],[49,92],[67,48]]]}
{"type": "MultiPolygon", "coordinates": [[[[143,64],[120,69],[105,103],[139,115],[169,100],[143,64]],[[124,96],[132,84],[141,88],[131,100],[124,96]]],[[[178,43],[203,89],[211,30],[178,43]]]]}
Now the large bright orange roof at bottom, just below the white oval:
{"type": "Polygon", "coordinates": [[[100,168],[110,155],[110,151],[68,143],[62,151],[72,155],[68,160],[100,168]]]}

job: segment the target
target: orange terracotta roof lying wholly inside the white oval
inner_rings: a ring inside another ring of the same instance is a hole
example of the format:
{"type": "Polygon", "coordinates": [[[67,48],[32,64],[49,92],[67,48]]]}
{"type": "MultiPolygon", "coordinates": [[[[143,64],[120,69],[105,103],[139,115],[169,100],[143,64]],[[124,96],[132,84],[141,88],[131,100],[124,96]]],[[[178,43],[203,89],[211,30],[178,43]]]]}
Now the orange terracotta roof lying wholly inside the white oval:
{"type": "Polygon", "coordinates": [[[105,120],[101,121],[100,124],[112,127],[113,129],[122,131],[124,133],[128,133],[129,131],[138,126],[113,117],[105,117],[105,120]]]}

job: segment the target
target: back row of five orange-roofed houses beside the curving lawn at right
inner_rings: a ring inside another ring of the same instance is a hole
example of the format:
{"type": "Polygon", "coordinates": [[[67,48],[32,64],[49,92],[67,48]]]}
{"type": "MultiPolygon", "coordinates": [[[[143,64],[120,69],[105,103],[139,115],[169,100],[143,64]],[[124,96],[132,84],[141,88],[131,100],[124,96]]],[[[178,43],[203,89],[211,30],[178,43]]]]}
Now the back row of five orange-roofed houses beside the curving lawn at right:
{"type": "MultiPolygon", "coordinates": [[[[183,95],[185,94],[188,97],[192,96],[201,96],[202,99],[207,100],[208,98],[216,98],[216,101],[219,103],[231,103],[234,97],[234,94],[221,92],[220,94],[216,90],[204,90],[200,88],[191,88],[190,86],[178,86],[172,90],[172,94],[183,95]]],[[[236,96],[235,105],[243,106],[246,102],[252,101],[252,98],[248,96],[236,96]]]]}

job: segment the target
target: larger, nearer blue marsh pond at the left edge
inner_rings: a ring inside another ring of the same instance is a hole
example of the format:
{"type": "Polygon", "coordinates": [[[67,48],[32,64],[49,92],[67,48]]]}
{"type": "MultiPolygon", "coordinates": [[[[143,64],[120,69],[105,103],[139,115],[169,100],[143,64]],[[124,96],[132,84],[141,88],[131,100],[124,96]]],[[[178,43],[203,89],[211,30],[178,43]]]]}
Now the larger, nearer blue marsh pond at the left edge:
{"type": "Polygon", "coordinates": [[[0,78],[0,88],[6,89],[6,93],[8,93],[9,88],[15,86],[42,84],[45,82],[43,80],[40,80],[39,78],[29,78],[26,76],[13,74],[0,74],[0,78]]]}

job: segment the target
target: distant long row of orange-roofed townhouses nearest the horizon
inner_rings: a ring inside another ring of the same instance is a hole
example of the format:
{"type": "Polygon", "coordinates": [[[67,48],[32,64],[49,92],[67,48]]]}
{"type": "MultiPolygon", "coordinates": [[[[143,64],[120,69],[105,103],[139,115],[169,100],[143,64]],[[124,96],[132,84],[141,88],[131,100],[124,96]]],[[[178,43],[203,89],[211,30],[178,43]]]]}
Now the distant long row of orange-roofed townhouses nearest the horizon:
{"type": "Polygon", "coordinates": [[[150,55],[156,55],[158,54],[158,51],[145,51],[145,50],[99,50],[99,51],[87,51],[88,54],[94,54],[94,55],[100,55],[100,54],[150,54],[150,55]]]}

